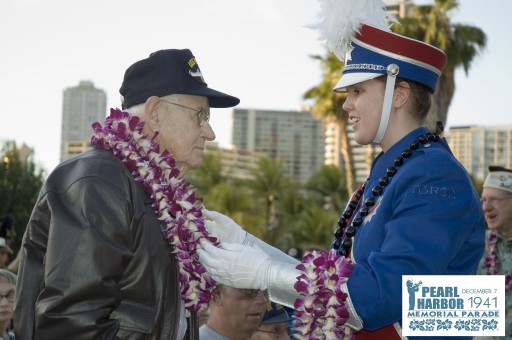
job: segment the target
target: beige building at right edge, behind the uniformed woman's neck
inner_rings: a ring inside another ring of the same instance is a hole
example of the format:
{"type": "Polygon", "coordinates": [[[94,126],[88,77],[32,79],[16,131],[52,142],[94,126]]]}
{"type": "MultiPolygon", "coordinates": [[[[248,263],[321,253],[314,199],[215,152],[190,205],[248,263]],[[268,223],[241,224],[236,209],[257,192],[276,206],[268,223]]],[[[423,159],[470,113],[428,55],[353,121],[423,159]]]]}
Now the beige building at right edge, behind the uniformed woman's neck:
{"type": "Polygon", "coordinates": [[[512,168],[512,126],[459,126],[445,135],[455,157],[479,180],[485,179],[489,165],[512,168]]]}

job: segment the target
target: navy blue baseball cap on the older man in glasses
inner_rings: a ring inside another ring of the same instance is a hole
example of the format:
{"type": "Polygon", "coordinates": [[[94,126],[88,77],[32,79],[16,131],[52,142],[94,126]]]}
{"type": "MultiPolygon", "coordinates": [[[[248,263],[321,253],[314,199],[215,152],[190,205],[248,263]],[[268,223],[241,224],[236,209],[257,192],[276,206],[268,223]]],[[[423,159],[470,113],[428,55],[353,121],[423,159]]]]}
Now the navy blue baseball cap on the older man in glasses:
{"type": "Polygon", "coordinates": [[[151,96],[189,94],[208,98],[211,107],[233,107],[240,99],[208,87],[196,58],[188,49],[160,50],[130,66],[119,93],[123,109],[142,104],[151,96]]]}

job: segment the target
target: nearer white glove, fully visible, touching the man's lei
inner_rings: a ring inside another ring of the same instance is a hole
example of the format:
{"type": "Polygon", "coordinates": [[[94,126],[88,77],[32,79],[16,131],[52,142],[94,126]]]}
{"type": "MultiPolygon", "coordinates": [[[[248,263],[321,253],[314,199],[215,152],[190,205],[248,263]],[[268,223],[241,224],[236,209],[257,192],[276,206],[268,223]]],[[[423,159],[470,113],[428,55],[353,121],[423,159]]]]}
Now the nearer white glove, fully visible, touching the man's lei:
{"type": "Polygon", "coordinates": [[[266,290],[270,258],[261,250],[234,243],[217,248],[201,241],[197,250],[201,263],[217,283],[240,288],[266,290]]]}

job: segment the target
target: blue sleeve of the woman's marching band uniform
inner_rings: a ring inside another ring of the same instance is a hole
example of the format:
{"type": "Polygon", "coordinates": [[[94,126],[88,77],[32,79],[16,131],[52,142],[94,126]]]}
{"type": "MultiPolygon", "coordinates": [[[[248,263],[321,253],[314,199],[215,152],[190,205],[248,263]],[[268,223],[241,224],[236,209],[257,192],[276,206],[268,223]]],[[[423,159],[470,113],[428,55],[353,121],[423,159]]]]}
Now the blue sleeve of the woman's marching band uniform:
{"type": "Polygon", "coordinates": [[[401,169],[376,220],[358,230],[367,257],[358,261],[354,250],[357,264],[347,285],[368,330],[401,319],[402,275],[475,274],[483,253],[481,207],[465,173],[442,163],[414,166],[424,171],[401,169]]]}

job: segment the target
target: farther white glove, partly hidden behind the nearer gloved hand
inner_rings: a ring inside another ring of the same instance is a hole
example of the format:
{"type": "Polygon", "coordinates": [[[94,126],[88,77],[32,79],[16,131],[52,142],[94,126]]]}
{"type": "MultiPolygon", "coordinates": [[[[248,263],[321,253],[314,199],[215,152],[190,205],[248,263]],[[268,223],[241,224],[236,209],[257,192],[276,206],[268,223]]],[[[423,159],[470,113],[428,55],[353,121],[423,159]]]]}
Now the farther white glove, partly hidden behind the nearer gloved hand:
{"type": "Polygon", "coordinates": [[[206,208],[203,208],[203,213],[207,218],[212,220],[205,220],[204,223],[210,235],[215,236],[221,242],[243,243],[247,232],[236,224],[235,221],[216,211],[206,210],[206,208]]]}

